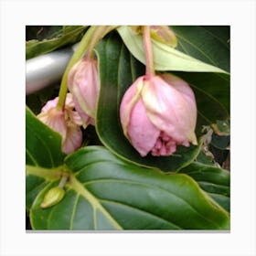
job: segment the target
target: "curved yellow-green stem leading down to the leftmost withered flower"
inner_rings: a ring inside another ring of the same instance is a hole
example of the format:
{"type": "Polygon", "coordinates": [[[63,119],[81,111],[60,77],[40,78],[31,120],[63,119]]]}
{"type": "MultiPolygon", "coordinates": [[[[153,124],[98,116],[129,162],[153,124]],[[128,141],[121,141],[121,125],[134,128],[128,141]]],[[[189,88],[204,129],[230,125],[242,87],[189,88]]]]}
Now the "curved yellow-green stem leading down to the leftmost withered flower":
{"type": "Polygon", "coordinates": [[[74,66],[76,62],[78,62],[85,54],[86,49],[89,47],[91,42],[91,37],[93,37],[93,34],[95,30],[97,29],[97,26],[91,26],[86,34],[82,37],[80,40],[80,45],[77,48],[76,52],[73,54],[72,58],[69,60],[69,64],[63,74],[61,83],[60,83],[60,89],[59,89],[59,101],[57,105],[58,110],[63,110],[65,107],[65,101],[66,96],[68,92],[68,75],[69,70],[74,66]]]}

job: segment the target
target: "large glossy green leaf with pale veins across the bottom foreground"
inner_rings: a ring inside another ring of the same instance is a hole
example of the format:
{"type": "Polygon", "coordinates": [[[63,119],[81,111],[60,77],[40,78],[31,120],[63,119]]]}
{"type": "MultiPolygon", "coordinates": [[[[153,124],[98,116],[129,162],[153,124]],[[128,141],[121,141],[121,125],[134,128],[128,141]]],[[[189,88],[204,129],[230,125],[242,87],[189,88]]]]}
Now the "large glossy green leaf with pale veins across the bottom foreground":
{"type": "Polygon", "coordinates": [[[166,175],[124,162],[100,146],[67,156],[65,197],[31,208],[33,229],[229,229],[229,214],[184,174],[166,175]]]}

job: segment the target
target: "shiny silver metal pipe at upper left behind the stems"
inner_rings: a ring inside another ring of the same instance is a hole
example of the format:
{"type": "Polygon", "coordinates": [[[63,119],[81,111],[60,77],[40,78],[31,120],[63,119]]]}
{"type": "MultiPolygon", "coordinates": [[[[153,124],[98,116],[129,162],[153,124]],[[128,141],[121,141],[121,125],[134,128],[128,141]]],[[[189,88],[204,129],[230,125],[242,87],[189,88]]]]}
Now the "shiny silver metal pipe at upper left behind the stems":
{"type": "Polygon", "coordinates": [[[42,90],[61,79],[78,44],[26,61],[26,95],[42,90]]]}

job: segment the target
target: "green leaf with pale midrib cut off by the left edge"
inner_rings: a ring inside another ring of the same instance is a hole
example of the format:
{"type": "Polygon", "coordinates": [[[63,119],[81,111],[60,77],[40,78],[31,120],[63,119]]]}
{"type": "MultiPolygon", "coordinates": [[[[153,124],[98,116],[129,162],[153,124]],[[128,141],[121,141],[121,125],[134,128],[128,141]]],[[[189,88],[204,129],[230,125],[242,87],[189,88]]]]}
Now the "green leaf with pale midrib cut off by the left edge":
{"type": "Polygon", "coordinates": [[[59,133],[55,133],[41,123],[34,113],[26,108],[27,208],[31,207],[35,197],[49,180],[59,179],[64,157],[59,133]],[[37,173],[41,173],[42,170],[44,170],[44,176],[37,176],[37,173]]]}

